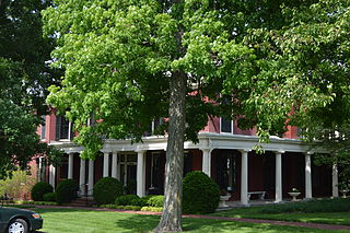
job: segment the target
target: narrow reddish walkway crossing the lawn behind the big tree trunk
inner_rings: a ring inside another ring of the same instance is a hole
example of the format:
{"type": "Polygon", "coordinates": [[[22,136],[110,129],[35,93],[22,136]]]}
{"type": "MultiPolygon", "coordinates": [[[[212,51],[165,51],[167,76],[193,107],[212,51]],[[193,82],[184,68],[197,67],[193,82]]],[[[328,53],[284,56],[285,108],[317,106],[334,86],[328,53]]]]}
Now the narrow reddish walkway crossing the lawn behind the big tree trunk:
{"type": "MultiPolygon", "coordinates": [[[[35,207],[43,208],[43,209],[86,209],[86,210],[96,210],[96,211],[110,211],[110,212],[124,212],[124,213],[132,213],[132,214],[144,214],[144,215],[161,215],[160,212],[117,210],[117,209],[92,208],[92,207],[79,207],[78,208],[78,207],[37,206],[37,205],[35,207]]],[[[192,218],[192,219],[214,219],[214,220],[235,221],[235,222],[267,223],[267,224],[273,224],[273,225],[289,225],[289,226],[300,226],[300,228],[322,229],[322,230],[348,230],[348,231],[350,231],[350,225],[322,224],[322,223],[308,223],[308,222],[288,222],[288,221],[277,221],[277,220],[244,219],[244,218],[197,215],[197,214],[184,214],[183,217],[184,218],[192,218]]]]}

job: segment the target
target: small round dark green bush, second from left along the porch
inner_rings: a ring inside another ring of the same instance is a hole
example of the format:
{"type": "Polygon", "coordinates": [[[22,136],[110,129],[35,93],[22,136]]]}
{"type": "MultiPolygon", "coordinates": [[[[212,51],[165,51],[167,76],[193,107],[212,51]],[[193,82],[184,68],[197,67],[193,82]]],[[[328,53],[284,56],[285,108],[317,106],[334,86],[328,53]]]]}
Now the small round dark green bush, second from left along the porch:
{"type": "Polygon", "coordinates": [[[56,188],[56,201],[58,203],[69,203],[77,198],[78,190],[79,186],[74,179],[62,180],[56,188]]]}

